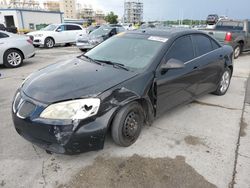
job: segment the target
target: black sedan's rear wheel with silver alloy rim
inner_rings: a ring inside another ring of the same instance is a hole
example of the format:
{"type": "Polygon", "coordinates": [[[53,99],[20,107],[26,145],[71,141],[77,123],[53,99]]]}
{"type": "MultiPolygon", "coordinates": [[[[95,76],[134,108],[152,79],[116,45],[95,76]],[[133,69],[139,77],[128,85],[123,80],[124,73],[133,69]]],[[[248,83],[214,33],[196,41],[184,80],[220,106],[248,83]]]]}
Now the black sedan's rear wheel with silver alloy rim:
{"type": "Polygon", "coordinates": [[[219,96],[225,95],[230,86],[231,77],[232,77],[232,71],[229,68],[225,68],[220,78],[220,83],[218,85],[218,88],[213,94],[219,96]]]}

